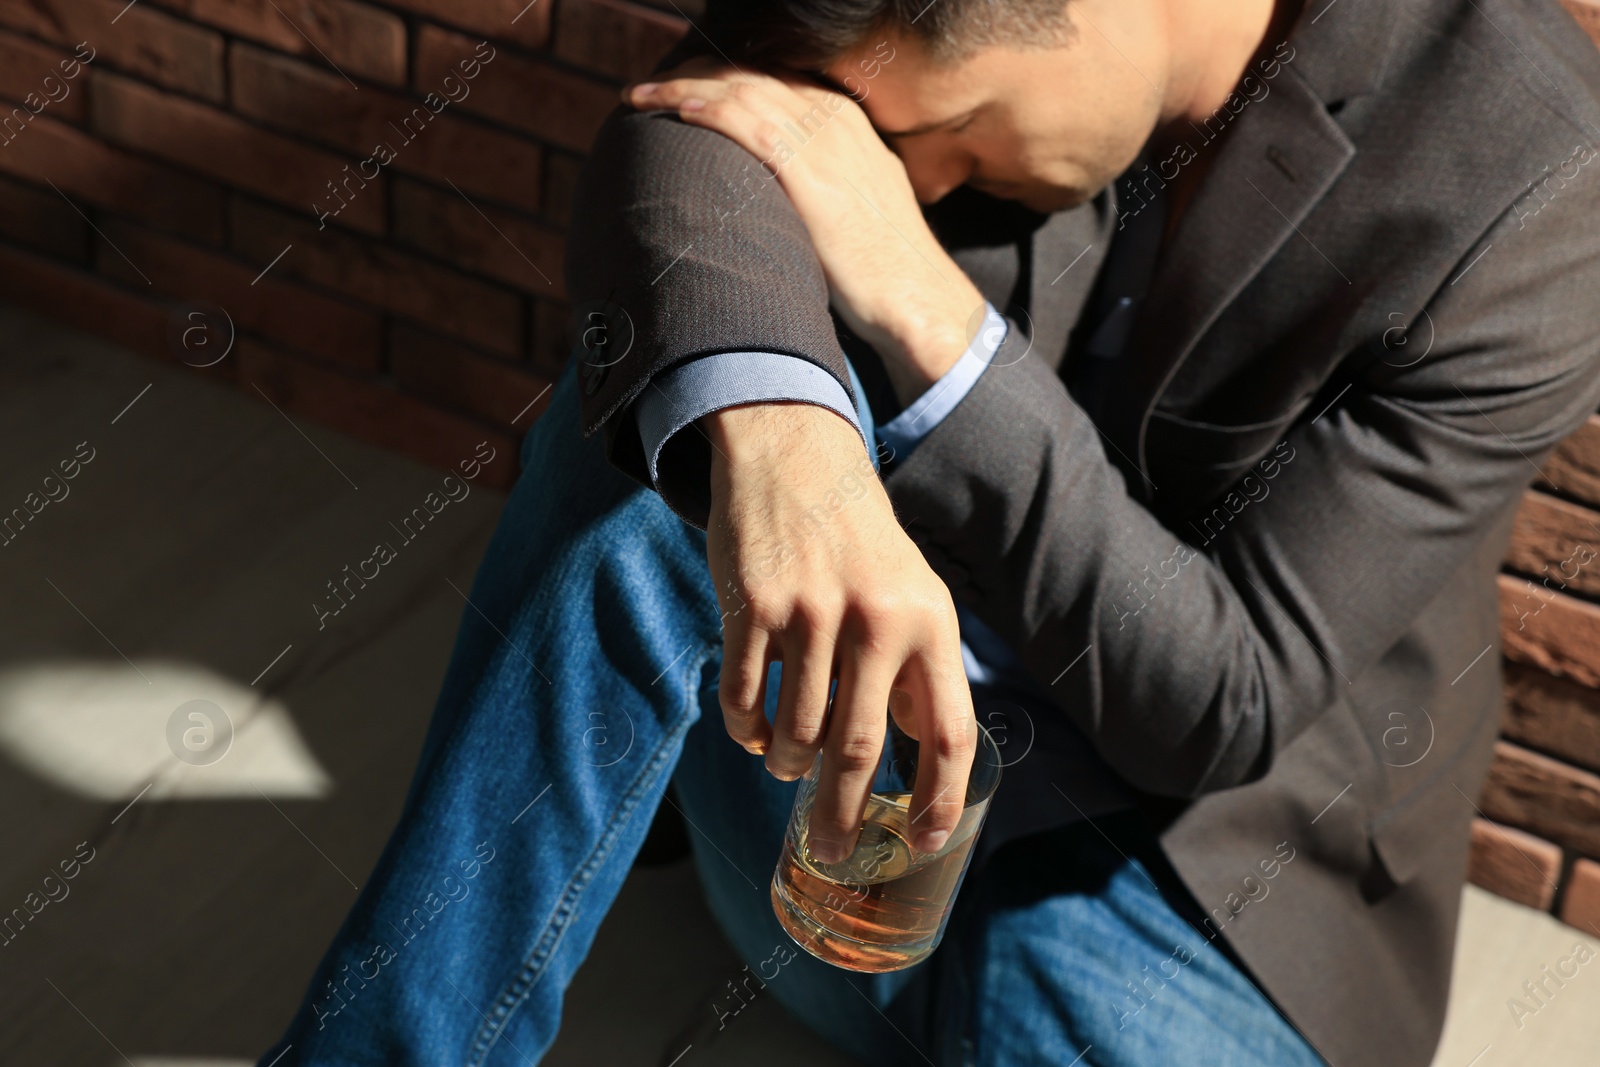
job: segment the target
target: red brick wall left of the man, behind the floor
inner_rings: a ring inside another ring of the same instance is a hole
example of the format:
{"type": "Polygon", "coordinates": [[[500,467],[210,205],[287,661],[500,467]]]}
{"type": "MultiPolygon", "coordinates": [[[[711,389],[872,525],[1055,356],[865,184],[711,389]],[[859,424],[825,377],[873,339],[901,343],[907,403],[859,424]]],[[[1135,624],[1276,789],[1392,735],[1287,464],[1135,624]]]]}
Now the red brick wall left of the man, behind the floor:
{"type": "Polygon", "coordinates": [[[232,333],[197,373],[424,462],[514,448],[582,152],[686,29],[659,5],[5,0],[0,296],[192,366],[232,333]]]}

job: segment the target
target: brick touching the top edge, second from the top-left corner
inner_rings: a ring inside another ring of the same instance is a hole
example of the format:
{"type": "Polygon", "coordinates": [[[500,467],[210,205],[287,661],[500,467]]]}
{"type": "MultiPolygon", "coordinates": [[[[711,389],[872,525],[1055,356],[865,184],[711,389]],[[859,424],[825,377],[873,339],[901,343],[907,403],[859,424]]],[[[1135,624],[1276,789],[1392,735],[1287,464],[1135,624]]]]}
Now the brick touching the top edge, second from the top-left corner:
{"type": "Polygon", "coordinates": [[[352,78],[405,85],[405,21],[392,11],[352,0],[150,2],[352,78]]]}

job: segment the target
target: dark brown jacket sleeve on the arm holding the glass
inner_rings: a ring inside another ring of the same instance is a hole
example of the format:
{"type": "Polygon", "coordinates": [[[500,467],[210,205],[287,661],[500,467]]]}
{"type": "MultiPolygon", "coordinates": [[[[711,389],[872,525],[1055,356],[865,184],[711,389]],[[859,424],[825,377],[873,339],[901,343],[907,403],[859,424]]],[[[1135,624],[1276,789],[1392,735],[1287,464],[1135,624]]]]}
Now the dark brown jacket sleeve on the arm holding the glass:
{"type": "MultiPolygon", "coordinates": [[[[720,133],[619,107],[584,162],[566,238],[584,435],[651,485],[632,403],[662,371],[770,352],[854,390],[810,234],[776,178],[720,133]]],[[[704,526],[704,514],[685,515],[704,526]]]]}

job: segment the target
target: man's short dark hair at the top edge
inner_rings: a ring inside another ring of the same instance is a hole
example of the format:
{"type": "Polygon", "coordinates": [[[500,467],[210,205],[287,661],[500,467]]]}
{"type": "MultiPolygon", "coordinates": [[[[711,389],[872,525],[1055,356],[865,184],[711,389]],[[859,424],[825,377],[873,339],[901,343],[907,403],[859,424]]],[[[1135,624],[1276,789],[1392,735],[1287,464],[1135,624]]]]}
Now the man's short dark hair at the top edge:
{"type": "Polygon", "coordinates": [[[800,70],[821,70],[890,30],[915,38],[936,62],[1072,35],[1067,0],[709,0],[704,26],[733,56],[800,70]]]}

